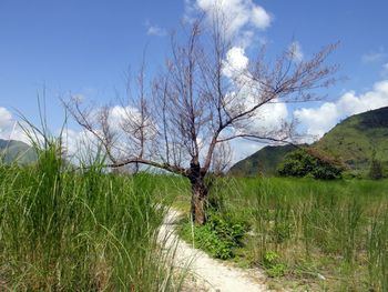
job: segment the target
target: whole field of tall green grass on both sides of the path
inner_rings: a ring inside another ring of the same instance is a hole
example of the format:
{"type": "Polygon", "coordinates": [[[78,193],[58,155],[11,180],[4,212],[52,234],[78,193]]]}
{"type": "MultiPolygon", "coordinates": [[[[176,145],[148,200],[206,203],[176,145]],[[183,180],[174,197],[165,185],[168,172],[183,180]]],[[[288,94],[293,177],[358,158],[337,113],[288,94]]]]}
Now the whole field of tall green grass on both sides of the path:
{"type": "MultiPolygon", "coordinates": [[[[188,182],[99,163],[81,173],[58,152],[0,165],[0,290],[178,291],[183,275],[156,234],[161,205],[188,213],[188,182]]],[[[388,291],[387,190],[387,180],[218,179],[194,241],[263,268],[273,289],[388,291]]],[[[188,219],[181,234],[193,241],[188,219]]]]}

